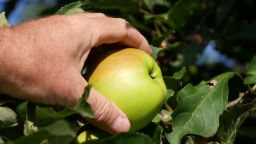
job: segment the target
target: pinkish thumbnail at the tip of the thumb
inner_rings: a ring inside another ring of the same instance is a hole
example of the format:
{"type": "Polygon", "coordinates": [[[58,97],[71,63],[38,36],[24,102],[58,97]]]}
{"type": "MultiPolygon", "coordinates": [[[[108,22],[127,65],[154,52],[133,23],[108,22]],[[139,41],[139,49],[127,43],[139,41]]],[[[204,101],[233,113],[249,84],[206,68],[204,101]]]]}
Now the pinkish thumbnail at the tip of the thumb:
{"type": "Polygon", "coordinates": [[[130,129],[130,125],[131,124],[127,118],[119,115],[115,120],[114,124],[112,125],[112,129],[115,132],[127,132],[130,129]]]}

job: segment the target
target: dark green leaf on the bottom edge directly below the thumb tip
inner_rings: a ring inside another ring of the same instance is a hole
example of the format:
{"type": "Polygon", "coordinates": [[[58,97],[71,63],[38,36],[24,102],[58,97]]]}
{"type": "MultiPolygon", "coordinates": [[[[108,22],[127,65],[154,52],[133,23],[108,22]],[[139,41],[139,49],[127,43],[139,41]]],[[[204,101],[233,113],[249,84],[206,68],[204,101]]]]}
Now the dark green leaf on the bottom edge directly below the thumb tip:
{"type": "Polygon", "coordinates": [[[119,133],[105,139],[102,144],[155,144],[155,142],[143,133],[119,133]]]}

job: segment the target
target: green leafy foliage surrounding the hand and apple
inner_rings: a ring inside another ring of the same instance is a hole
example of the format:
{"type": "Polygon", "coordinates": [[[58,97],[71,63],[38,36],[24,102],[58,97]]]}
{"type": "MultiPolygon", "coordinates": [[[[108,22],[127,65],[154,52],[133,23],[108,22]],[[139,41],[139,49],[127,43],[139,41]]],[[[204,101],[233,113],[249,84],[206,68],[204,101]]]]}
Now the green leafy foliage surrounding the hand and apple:
{"type": "MultiPolygon", "coordinates": [[[[152,123],[136,133],[98,135],[98,142],[232,144],[243,136],[255,137],[255,131],[248,134],[242,127],[248,118],[255,120],[256,109],[253,4],[252,0],[84,0],[54,12],[102,12],[126,19],[147,38],[163,72],[167,99],[152,123]],[[244,16],[246,8],[252,16],[244,16]]],[[[4,12],[3,26],[8,26],[4,12]]],[[[93,117],[85,102],[90,88],[71,109],[1,96],[0,143],[71,144],[81,132],[97,130],[83,119],[93,117]]]]}

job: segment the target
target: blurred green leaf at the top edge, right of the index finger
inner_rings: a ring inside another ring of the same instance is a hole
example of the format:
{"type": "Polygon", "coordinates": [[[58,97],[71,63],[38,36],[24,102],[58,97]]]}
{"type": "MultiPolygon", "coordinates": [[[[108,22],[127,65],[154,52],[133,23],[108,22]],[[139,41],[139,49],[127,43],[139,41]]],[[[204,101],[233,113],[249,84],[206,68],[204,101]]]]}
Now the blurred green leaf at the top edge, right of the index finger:
{"type": "Polygon", "coordinates": [[[179,30],[187,23],[189,17],[195,11],[202,11],[199,0],[179,0],[167,13],[158,15],[145,15],[145,19],[155,18],[173,29],[179,30]],[[181,11],[182,10],[182,11],[181,11]]]}

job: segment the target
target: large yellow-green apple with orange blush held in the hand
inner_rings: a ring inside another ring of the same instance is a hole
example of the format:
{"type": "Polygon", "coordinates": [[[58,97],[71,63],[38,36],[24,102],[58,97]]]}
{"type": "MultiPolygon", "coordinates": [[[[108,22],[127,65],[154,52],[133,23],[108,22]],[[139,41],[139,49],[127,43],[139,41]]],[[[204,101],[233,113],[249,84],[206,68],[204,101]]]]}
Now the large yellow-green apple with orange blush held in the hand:
{"type": "Polygon", "coordinates": [[[149,124],[166,98],[160,67],[148,53],[136,48],[105,53],[85,75],[96,91],[125,113],[130,131],[149,124]]]}

